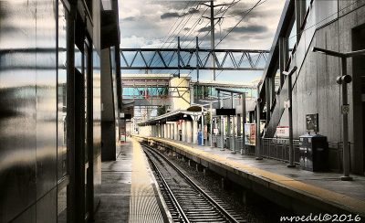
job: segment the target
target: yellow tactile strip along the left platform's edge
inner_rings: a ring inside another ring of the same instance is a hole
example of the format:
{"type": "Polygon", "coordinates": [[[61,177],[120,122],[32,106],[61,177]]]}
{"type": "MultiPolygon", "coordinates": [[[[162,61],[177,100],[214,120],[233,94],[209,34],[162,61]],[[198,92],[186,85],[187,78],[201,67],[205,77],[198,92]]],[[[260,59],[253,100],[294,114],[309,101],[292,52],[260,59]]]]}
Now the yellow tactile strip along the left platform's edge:
{"type": "Polygon", "coordinates": [[[131,139],[133,146],[131,186],[130,186],[130,223],[163,222],[161,209],[153,191],[151,175],[141,145],[131,139]]]}

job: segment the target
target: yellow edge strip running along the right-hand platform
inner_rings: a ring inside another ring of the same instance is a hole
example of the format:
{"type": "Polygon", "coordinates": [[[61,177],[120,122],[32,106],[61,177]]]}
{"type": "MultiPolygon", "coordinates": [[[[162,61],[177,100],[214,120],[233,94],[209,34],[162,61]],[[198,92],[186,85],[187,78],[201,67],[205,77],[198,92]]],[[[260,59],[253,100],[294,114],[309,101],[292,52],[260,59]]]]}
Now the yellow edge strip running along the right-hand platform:
{"type": "Polygon", "coordinates": [[[350,196],[345,196],[343,194],[339,194],[337,192],[333,192],[318,186],[312,186],[284,175],[277,175],[275,173],[271,173],[251,165],[244,165],[234,160],[229,160],[223,156],[204,152],[202,150],[195,149],[188,145],[175,143],[173,141],[161,138],[155,138],[155,137],[146,137],[146,138],[151,141],[156,141],[171,145],[175,148],[183,150],[185,153],[193,154],[194,156],[202,158],[203,160],[206,160],[210,163],[213,163],[214,165],[224,166],[226,169],[232,168],[235,172],[238,172],[237,174],[245,175],[245,177],[248,177],[251,180],[254,180],[258,183],[266,183],[266,184],[268,183],[270,188],[280,192],[285,192],[287,195],[288,193],[290,193],[290,191],[292,193],[303,194],[305,196],[318,199],[322,202],[328,203],[335,207],[339,207],[341,209],[365,217],[365,202],[362,200],[355,199],[350,196]]]}

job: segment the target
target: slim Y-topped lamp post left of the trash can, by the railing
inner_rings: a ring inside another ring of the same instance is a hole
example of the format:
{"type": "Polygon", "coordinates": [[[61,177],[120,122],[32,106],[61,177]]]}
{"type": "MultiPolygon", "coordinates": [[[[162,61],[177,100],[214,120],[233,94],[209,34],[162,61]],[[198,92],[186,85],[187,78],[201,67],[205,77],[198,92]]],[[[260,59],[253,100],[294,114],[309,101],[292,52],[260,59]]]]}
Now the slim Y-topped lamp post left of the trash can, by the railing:
{"type": "Polygon", "coordinates": [[[289,105],[287,108],[289,118],[289,164],[287,167],[296,167],[294,164],[294,147],[293,147],[293,111],[292,111],[292,88],[291,88],[291,76],[297,70],[297,66],[294,66],[289,72],[284,71],[283,74],[287,75],[287,100],[289,105]]]}

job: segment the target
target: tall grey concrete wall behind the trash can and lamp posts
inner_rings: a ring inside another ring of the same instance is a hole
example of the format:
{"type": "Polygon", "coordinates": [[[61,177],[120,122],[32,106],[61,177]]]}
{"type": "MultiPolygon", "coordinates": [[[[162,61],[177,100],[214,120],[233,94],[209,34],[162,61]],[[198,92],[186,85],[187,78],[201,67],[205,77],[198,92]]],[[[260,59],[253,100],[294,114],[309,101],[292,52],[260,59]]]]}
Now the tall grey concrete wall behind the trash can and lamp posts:
{"type": "MultiPolygon", "coordinates": [[[[306,114],[318,113],[319,132],[328,136],[329,142],[342,141],[340,88],[336,78],[341,74],[339,58],[318,54],[308,50],[312,47],[327,48],[339,52],[353,50],[351,33],[353,28],[365,24],[365,1],[314,1],[308,16],[307,30],[298,43],[294,63],[298,71],[293,75],[293,125],[294,137],[306,133],[306,114]]],[[[348,74],[353,77],[352,60],[348,60],[348,74]]],[[[354,118],[354,112],[361,113],[359,93],[354,94],[349,84],[349,141],[351,143],[352,172],[363,175],[364,147],[362,143],[361,115],[354,118]],[[357,110],[354,110],[354,104],[357,110]]],[[[357,90],[358,92],[359,90],[357,90]]],[[[282,93],[286,93],[283,90],[282,93]]],[[[279,125],[288,125],[287,111],[279,125]]]]}

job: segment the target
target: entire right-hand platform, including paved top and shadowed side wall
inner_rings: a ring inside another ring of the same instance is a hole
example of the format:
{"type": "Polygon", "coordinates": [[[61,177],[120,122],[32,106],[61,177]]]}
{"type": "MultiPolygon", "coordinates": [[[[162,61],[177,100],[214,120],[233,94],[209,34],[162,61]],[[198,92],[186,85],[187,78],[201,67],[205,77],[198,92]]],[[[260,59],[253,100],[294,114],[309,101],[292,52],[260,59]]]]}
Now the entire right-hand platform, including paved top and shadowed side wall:
{"type": "Polygon", "coordinates": [[[340,181],[339,173],[314,173],[287,168],[286,163],[230,150],[183,143],[159,137],[134,136],[140,142],[162,146],[193,160],[224,178],[298,214],[332,213],[365,217],[365,177],[340,181]]]}

